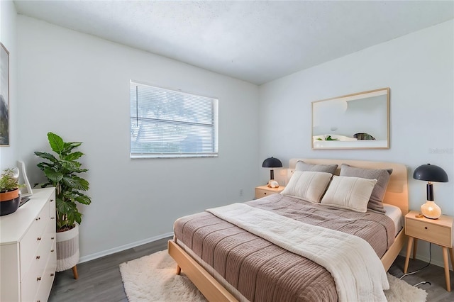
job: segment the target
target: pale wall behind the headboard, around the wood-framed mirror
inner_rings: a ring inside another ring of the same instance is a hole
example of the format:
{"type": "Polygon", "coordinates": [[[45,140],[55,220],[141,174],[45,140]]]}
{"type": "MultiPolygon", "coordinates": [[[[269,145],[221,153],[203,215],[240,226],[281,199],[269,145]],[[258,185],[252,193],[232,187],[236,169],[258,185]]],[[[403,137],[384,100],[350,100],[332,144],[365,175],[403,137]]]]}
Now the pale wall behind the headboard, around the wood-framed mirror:
{"type": "MultiPolygon", "coordinates": [[[[426,184],[412,179],[420,164],[437,164],[450,182],[435,183],[443,213],[454,216],[454,21],[291,74],[260,86],[260,157],[400,162],[408,167],[409,206],[419,209],[426,184]],[[390,87],[389,150],[311,150],[311,102],[390,87]]],[[[262,181],[267,174],[260,173],[262,181]]],[[[441,249],[433,247],[438,264],[441,249]]],[[[428,259],[428,245],[419,245],[428,259]]]]}

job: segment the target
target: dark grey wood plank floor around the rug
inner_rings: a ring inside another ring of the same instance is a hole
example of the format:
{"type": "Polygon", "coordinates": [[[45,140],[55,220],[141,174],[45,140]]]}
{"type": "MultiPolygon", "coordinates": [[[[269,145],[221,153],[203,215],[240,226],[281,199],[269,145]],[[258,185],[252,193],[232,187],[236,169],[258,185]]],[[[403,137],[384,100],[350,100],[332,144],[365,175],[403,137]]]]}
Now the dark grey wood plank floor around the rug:
{"type": "MultiPolygon", "coordinates": [[[[170,238],[168,238],[170,239],[170,238]]],[[[120,270],[118,265],[145,255],[153,254],[167,248],[167,238],[140,245],[114,255],[109,255],[89,262],[77,265],[79,279],[75,280],[72,270],[59,272],[55,276],[55,281],[50,292],[49,301],[51,302],[89,302],[89,301],[109,301],[127,302],[126,294],[121,282],[120,270]]],[[[389,273],[400,277],[403,274],[404,257],[397,257],[389,273]]],[[[424,267],[427,263],[420,260],[411,260],[409,272],[424,267]]],[[[450,272],[452,292],[446,291],[445,274],[442,267],[431,264],[421,272],[406,276],[404,280],[411,284],[418,284],[421,281],[429,281],[431,284],[419,286],[428,292],[427,301],[454,301],[454,274],[450,272]]]]}

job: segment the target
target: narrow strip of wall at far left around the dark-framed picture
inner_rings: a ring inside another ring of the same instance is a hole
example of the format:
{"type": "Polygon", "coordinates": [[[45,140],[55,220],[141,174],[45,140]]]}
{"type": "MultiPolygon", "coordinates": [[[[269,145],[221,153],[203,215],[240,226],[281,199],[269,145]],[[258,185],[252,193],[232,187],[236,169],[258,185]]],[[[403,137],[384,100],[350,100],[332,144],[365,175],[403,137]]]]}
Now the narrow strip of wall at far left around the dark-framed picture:
{"type": "Polygon", "coordinates": [[[0,147],[0,172],[16,167],[18,160],[16,16],[13,1],[0,1],[0,42],[9,51],[9,146],[0,147]]]}

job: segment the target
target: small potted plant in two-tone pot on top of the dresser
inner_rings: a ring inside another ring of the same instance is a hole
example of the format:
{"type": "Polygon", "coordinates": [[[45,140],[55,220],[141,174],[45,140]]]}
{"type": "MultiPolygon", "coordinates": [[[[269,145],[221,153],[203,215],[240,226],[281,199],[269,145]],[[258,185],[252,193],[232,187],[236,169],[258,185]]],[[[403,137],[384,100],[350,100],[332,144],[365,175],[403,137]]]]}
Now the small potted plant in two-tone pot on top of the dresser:
{"type": "Polygon", "coordinates": [[[0,216],[14,213],[19,208],[21,197],[18,181],[19,170],[17,168],[7,168],[0,176],[0,216]]]}

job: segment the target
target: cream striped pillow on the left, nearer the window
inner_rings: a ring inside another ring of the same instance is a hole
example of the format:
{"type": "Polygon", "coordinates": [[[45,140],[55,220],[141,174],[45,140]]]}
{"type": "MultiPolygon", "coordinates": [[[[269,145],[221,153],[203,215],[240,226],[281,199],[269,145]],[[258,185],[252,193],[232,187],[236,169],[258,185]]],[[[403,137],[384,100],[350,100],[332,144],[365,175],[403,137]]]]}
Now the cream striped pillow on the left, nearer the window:
{"type": "Polygon", "coordinates": [[[326,172],[295,171],[281,194],[319,203],[332,176],[326,172]]]}

